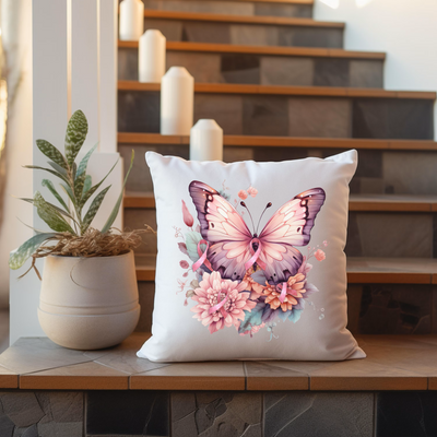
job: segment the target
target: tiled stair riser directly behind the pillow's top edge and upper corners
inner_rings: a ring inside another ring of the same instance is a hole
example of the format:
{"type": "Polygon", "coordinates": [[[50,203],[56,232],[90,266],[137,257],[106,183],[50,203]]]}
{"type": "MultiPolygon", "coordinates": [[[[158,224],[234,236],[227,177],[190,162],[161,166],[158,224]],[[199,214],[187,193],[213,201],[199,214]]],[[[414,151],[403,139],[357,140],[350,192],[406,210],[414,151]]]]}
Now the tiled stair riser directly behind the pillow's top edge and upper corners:
{"type": "MultiPolygon", "coordinates": [[[[135,163],[130,174],[127,190],[151,192],[152,178],[144,163],[147,151],[163,155],[189,158],[187,144],[119,144],[118,150],[129,167],[131,150],[135,151],[135,163]]],[[[286,161],[308,156],[327,157],[342,150],[300,147],[224,147],[224,161],[286,161]]],[[[437,194],[437,154],[433,152],[403,152],[382,150],[358,150],[358,168],[351,182],[351,192],[358,194],[437,194]]]]}

